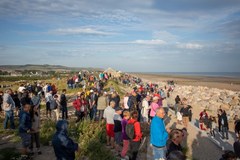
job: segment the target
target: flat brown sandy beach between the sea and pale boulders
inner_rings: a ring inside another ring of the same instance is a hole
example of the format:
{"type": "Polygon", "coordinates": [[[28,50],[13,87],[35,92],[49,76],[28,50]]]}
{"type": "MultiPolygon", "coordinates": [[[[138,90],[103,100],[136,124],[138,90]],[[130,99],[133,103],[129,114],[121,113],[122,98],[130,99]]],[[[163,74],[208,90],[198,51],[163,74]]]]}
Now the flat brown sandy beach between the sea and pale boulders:
{"type": "Polygon", "coordinates": [[[240,78],[238,77],[217,77],[217,76],[194,76],[194,75],[169,75],[152,73],[131,73],[146,81],[167,82],[173,80],[178,85],[205,86],[209,88],[240,91],[240,78]]]}

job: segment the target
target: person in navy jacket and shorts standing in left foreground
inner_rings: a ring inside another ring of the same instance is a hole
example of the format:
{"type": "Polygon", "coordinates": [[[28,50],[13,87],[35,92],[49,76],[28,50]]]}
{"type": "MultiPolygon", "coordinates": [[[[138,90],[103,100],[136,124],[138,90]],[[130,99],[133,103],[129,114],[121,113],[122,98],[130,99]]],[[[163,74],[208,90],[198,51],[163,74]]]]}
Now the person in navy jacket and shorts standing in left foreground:
{"type": "Polygon", "coordinates": [[[20,113],[20,118],[19,118],[19,135],[22,139],[22,157],[27,158],[27,148],[30,146],[31,143],[31,135],[30,135],[30,130],[32,127],[31,124],[31,117],[29,114],[30,110],[30,104],[25,104],[23,106],[23,111],[20,113]]]}

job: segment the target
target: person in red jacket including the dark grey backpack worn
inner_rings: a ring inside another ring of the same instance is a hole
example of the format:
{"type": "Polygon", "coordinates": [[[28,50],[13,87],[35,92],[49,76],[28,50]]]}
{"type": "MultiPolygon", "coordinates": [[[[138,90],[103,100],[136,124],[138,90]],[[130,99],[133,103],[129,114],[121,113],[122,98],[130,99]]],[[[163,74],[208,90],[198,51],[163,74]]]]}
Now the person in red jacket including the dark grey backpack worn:
{"type": "Polygon", "coordinates": [[[138,111],[133,111],[131,113],[131,119],[128,121],[126,125],[126,134],[130,139],[129,145],[129,158],[130,160],[136,160],[138,150],[141,143],[142,131],[140,123],[138,120],[138,111]]]}

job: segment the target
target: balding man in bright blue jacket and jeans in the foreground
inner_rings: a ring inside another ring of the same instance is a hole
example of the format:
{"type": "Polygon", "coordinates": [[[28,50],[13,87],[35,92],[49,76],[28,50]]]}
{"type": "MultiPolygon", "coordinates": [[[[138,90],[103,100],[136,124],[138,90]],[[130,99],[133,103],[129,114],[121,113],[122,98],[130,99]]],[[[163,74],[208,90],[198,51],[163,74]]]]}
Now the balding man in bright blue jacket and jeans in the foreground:
{"type": "Polygon", "coordinates": [[[156,115],[151,122],[150,143],[153,148],[154,159],[166,159],[166,143],[168,140],[168,132],[163,121],[164,116],[164,109],[159,108],[156,110],[156,115]]]}

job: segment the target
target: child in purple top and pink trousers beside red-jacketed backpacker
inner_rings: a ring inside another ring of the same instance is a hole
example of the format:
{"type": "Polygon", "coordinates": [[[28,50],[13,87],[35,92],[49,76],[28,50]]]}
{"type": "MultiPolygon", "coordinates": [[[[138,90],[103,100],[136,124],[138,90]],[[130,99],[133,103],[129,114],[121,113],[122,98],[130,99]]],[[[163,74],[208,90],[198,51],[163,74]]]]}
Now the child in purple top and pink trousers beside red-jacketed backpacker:
{"type": "Polygon", "coordinates": [[[125,110],[123,111],[123,119],[121,121],[122,124],[122,139],[123,139],[123,148],[122,148],[122,152],[121,152],[121,157],[125,158],[126,154],[128,152],[128,148],[129,148],[129,138],[126,134],[126,125],[128,123],[128,120],[130,118],[130,112],[125,110]]]}

